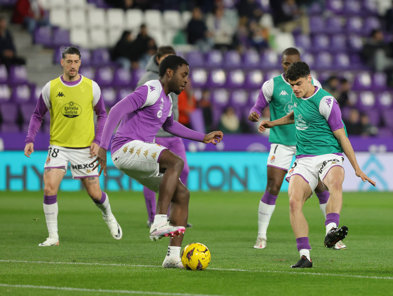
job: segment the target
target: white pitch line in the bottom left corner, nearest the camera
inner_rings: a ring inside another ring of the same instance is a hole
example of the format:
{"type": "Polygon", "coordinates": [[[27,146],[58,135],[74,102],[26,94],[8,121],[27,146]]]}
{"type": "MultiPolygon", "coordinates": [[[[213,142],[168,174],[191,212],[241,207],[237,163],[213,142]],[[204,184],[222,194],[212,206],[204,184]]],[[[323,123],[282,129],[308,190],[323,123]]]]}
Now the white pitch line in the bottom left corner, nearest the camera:
{"type": "Polygon", "coordinates": [[[222,295],[189,294],[189,293],[166,293],[166,292],[129,291],[129,290],[84,289],[84,288],[73,288],[73,287],[9,285],[9,284],[2,284],[2,283],[0,283],[0,287],[34,288],[34,289],[79,291],[79,292],[102,292],[102,293],[118,293],[118,294],[120,293],[120,294],[149,294],[149,295],[168,295],[168,296],[222,296],[222,295]]]}

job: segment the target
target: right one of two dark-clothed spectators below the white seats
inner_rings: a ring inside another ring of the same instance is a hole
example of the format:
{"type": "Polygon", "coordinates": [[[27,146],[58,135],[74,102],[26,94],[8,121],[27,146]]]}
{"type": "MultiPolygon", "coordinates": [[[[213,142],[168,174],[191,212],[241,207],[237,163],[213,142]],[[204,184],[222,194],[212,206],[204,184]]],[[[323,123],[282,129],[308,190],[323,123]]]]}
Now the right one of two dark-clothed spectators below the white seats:
{"type": "Polygon", "coordinates": [[[156,42],[147,34],[147,27],[142,24],[140,33],[134,41],[134,51],[137,60],[139,60],[140,68],[144,69],[150,57],[157,51],[156,42]]]}

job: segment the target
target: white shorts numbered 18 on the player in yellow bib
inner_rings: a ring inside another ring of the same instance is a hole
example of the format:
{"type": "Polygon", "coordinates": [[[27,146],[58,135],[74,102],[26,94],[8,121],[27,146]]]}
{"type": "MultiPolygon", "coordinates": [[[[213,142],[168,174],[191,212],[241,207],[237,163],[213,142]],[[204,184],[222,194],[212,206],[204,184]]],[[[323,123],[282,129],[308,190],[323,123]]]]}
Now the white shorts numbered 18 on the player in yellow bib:
{"type": "Polygon", "coordinates": [[[90,164],[94,157],[90,158],[90,148],[72,149],[56,145],[49,145],[48,156],[44,169],[60,168],[67,172],[68,163],[71,166],[73,179],[86,177],[98,177],[97,171],[92,171],[94,164],[90,164]]]}

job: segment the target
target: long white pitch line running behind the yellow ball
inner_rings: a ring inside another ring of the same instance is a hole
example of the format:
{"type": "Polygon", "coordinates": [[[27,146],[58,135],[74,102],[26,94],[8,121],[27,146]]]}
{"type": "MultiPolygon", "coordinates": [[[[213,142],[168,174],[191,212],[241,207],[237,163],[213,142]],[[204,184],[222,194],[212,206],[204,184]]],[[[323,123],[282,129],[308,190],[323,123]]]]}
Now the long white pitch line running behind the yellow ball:
{"type": "MultiPolygon", "coordinates": [[[[162,267],[161,265],[142,265],[142,264],[120,264],[120,263],[87,263],[87,262],[53,262],[53,261],[24,261],[24,260],[2,260],[0,262],[19,262],[19,263],[47,263],[47,264],[79,264],[79,265],[101,265],[101,266],[129,266],[129,267],[162,267]]],[[[249,270],[249,269],[225,269],[213,268],[210,270],[220,271],[241,271],[241,272],[272,272],[272,273],[287,273],[287,274],[311,274],[314,276],[345,276],[349,278],[369,278],[376,280],[393,280],[389,276],[358,276],[351,274],[333,274],[333,273],[320,273],[320,272],[296,272],[296,271],[283,271],[283,270],[249,270]]]]}

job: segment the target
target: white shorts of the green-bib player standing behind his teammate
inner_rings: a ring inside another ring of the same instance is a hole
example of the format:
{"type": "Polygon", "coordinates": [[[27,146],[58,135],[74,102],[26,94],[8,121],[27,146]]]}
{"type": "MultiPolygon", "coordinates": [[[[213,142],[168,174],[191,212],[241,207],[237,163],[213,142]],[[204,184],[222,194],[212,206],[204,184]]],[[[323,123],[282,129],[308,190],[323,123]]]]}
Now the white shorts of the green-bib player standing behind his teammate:
{"type": "Polygon", "coordinates": [[[268,162],[266,166],[279,168],[288,171],[291,167],[292,159],[296,154],[296,146],[286,146],[283,144],[271,144],[268,162]]]}

